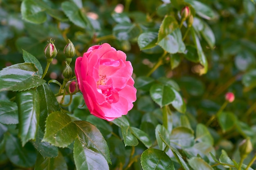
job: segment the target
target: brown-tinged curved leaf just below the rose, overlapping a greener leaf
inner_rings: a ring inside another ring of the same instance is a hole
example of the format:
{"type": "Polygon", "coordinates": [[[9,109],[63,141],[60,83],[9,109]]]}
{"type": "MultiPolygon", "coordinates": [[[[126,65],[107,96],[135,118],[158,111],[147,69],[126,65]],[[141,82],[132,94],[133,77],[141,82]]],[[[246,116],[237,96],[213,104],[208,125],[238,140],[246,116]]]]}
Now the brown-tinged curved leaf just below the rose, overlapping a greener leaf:
{"type": "Polygon", "coordinates": [[[108,144],[101,132],[87,121],[74,121],[78,128],[79,141],[86,148],[94,148],[111,163],[108,144]]]}

